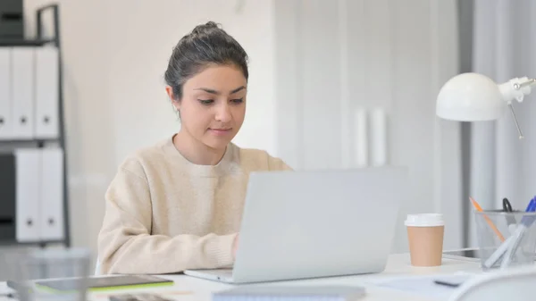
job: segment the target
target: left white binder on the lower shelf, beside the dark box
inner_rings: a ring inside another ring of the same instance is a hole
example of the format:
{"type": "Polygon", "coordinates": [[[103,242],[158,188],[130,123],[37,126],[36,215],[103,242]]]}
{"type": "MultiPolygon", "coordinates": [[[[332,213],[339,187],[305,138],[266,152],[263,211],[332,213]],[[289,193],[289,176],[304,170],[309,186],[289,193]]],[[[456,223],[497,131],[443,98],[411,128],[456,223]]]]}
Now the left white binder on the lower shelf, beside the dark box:
{"type": "Polygon", "coordinates": [[[39,149],[17,149],[15,154],[15,236],[18,242],[39,240],[39,149]]]}

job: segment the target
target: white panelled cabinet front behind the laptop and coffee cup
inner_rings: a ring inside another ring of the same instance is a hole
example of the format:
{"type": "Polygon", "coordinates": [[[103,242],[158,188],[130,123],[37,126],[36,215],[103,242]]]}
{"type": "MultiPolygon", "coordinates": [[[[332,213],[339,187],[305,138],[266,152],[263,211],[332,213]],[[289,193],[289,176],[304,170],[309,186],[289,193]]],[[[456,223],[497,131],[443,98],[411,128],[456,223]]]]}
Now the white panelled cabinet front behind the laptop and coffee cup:
{"type": "Polygon", "coordinates": [[[388,164],[411,177],[394,249],[406,250],[406,213],[430,212],[445,215],[445,247],[461,247],[459,124],[435,116],[457,72],[456,2],[275,3],[281,157],[297,169],[357,167],[355,112],[381,108],[388,164]]]}

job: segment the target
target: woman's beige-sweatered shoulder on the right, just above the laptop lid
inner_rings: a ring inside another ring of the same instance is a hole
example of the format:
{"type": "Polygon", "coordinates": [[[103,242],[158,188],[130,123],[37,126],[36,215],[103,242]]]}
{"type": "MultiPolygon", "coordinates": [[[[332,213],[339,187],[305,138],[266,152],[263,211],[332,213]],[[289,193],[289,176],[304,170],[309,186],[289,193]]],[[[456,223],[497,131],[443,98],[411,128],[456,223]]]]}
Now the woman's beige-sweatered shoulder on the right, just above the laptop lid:
{"type": "Polygon", "coordinates": [[[264,149],[235,147],[239,150],[239,162],[244,168],[255,171],[292,170],[281,158],[271,155],[264,149]]]}

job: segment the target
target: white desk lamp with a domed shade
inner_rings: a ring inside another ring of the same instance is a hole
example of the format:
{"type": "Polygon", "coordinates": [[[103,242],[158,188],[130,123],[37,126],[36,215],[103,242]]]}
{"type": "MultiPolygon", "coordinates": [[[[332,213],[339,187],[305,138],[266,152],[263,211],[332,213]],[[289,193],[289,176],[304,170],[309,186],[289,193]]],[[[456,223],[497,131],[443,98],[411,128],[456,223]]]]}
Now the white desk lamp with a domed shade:
{"type": "Polygon", "coordinates": [[[508,106],[521,139],[523,133],[515,118],[512,101],[523,102],[523,96],[529,95],[534,85],[536,79],[526,77],[497,84],[482,74],[458,74],[440,89],[436,114],[453,121],[491,121],[502,117],[508,106]]]}

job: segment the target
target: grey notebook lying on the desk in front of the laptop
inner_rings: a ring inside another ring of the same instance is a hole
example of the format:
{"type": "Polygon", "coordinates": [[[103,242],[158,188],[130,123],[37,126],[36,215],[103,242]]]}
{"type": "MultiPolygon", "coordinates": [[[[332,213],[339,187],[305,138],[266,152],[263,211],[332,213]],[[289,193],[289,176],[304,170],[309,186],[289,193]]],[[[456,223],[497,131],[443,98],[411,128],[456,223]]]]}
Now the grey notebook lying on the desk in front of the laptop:
{"type": "Polygon", "coordinates": [[[244,286],[213,294],[213,301],[352,301],[364,296],[364,288],[351,286],[244,286]]]}

